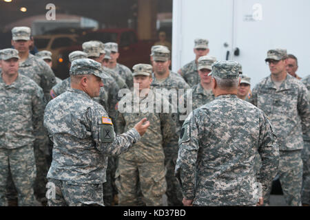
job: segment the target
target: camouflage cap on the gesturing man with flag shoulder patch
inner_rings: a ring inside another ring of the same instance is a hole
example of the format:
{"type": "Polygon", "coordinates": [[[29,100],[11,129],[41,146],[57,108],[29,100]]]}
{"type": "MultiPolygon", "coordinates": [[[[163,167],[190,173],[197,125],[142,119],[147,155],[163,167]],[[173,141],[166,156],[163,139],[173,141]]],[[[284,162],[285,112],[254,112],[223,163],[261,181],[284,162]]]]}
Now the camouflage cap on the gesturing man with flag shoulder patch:
{"type": "Polygon", "coordinates": [[[94,74],[100,78],[108,78],[103,72],[101,63],[89,58],[81,58],[72,61],[70,67],[70,76],[94,74]]]}

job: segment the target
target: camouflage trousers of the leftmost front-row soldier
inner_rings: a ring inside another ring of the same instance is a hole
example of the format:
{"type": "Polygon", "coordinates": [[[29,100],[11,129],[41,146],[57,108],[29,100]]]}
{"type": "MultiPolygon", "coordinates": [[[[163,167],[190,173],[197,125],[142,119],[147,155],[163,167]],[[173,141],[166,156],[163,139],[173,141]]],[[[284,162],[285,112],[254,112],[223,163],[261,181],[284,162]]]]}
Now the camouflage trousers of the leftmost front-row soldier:
{"type": "Polygon", "coordinates": [[[11,175],[11,188],[17,189],[19,206],[34,206],[36,166],[32,145],[21,148],[0,148],[0,206],[8,206],[6,189],[11,175]]]}

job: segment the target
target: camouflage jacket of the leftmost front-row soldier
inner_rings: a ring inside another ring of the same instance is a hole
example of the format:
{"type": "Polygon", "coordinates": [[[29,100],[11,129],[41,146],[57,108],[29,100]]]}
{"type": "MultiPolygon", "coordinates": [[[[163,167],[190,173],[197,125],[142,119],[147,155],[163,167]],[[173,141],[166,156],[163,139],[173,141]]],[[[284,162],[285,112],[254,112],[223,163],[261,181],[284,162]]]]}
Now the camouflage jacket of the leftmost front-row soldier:
{"type": "Polygon", "coordinates": [[[37,83],[19,74],[14,83],[6,85],[0,72],[0,148],[45,143],[44,107],[37,83]]]}

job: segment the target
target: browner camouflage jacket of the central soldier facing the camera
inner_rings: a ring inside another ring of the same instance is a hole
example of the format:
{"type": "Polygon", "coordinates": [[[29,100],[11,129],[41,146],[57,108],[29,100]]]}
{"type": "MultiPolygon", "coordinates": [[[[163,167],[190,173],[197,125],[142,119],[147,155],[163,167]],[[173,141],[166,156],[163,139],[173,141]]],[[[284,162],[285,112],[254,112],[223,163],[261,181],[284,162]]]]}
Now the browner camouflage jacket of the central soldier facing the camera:
{"type": "Polygon", "coordinates": [[[152,128],[147,129],[141,140],[134,144],[129,151],[122,154],[121,158],[136,162],[164,161],[163,146],[164,148],[169,147],[167,145],[176,133],[174,114],[163,113],[164,106],[169,108],[169,105],[167,99],[161,98],[161,94],[156,96],[152,90],[149,91],[148,96],[141,98],[132,91],[118,102],[118,108],[123,106],[123,111],[118,109],[117,126],[120,130],[119,133],[129,131],[143,118],[147,118],[152,124],[152,128]],[[130,106],[128,107],[128,105],[130,106]]]}

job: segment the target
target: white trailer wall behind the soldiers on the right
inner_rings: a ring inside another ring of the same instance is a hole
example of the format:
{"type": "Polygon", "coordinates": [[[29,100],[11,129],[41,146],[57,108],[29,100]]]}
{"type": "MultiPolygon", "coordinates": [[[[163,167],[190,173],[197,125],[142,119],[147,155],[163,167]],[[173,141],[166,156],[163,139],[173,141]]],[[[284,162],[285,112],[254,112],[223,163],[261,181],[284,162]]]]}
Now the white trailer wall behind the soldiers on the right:
{"type": "Polygon", "coordinates": [[[172,70],[194,60],[194,39],[209,40],[211,56],[238,61],[254,87],[270,74],[267,50],[298,58],[297,74],[310,74],[309,0],[174,0],[172,70]],[[239,56],[234,55],[238,47],[239,56]],[[229,54],[228,54],[229,53],[229,54]],[[228,56],[227,56],[228,54],[228,56]]]}

